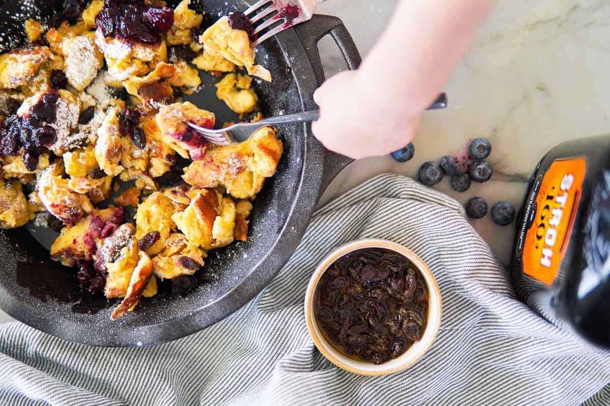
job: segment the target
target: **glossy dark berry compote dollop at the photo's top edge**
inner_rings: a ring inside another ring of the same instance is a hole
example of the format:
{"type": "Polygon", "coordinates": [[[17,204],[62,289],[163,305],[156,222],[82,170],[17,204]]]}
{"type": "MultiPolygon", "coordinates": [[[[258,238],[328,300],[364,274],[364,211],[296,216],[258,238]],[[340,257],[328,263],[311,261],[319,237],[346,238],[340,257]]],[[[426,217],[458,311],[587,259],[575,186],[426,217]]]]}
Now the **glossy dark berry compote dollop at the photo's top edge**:
{"type": "Polygon", "coordinates": [[[150,7],[142,0],[106,0],[95,18],[104,37],[145,44],[158,43],[161,33],[174,24],[174,10],[170,7],[150,7]]]}

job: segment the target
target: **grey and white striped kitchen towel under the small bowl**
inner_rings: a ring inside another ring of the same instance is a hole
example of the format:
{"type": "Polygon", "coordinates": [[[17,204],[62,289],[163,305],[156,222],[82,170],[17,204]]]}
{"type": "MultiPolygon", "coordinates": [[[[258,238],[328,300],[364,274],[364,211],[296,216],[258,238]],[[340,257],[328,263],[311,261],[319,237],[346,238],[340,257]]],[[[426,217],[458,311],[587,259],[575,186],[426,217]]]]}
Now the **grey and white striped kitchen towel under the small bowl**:
{"type": "Polygon", "coordinates": [[[610,352],[520,303],[459,203],[389,174],[318,210],[267,289],[215,326],[151,348],[92,348],[5,324],[0,376],[1,405],[610,404],[610,352]],[[305,327],[315,266],[365,237],[419,254],[443,297],[434,346],[392,376],[336,368],[305,327]]]}

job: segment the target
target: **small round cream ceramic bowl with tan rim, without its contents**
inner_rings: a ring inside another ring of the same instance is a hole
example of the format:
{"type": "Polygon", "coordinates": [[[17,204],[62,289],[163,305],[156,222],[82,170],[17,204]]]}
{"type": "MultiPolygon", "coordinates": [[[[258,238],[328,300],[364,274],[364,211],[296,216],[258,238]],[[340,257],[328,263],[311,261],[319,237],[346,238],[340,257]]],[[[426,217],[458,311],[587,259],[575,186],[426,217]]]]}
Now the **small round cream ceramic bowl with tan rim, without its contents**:
{"type": "Polygon", "coordinates": [[[402,371],[421,359],[426,351],[428,351],[428,349],[432,346],[434,338],[436,338],[436,334],[439,331],[441,310],[442,301],[440,299],[439,285],[436,283],[434,275],[432,275],[432,272],[425,262],[423,262],[422,259],[411,250],[407,250],[407,248],[404,248],[402,245],[386,240],[357,240],[347,243],[332,251],[332,253],[329,254],[314,271],[314,275],[311,276],[309,285],[307,286],[307,292],[305,293],[305,321],[307,323],[309,334],[314,340],[315,346],[317,346],[318,350],[320,350],[320,352],[330,362],[339,366],[339,368],[360,375],[375,376],[397,373],[398,371],[402,371]],[[361,250],[362,248],[386,248],[387,250],[392,250],[402,254],[418,268],[426,281],[426,285],[428,285],[428,323],[426,324],[426,329],[424,331],[422,340],[418,341],[411,346],[411,348],[407,349],[407,351],[404,352],[403,355],[400,355],[400,357],[389,360],[380,365],[352,359],[337,351],[321,333],[314,312],[315,289],[323,273],[340,257],[351,253],[352,251],[361,250]]]}

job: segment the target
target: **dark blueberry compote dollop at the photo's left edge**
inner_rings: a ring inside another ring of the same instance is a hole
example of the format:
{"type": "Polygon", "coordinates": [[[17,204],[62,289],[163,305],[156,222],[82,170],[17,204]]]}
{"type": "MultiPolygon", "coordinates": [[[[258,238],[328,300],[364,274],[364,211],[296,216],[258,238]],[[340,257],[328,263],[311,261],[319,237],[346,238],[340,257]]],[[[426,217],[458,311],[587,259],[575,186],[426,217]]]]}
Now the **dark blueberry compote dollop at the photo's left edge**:
{"type": "Polygon", "coordinates": [[[0,156],[19,155],[23,148],[23,163],[27,170],[35,170],[40,154],[57,138],[50,124],[56,121],[58,99],[56,92],[46,93],[26,116],[8,116],[0,127],[0,156]]]}

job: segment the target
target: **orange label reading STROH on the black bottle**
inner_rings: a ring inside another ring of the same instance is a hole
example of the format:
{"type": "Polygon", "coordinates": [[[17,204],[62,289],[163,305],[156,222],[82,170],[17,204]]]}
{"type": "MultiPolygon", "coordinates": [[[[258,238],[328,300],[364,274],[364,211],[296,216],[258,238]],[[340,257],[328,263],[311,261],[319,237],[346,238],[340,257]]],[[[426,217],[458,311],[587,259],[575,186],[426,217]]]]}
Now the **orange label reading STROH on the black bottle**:
{"type": "Polygon", "coordinates": [[[559,273],[583,189],[584,158],[558,159],[544,174],[536,215],[523,242],[523,272],[547,285],[559,273]]]}

